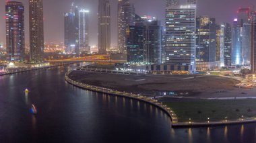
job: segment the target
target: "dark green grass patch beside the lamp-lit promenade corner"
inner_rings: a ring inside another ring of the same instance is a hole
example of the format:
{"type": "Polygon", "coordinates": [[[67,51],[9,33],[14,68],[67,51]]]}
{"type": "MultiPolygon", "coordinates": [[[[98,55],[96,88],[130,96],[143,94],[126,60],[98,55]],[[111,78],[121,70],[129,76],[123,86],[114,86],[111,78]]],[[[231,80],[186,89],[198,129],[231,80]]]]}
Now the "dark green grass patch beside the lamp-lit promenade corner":
{"type": "Polygon", "coordinates": [[[178,117],[179,122],[205,122],[207,117],[210,121],[238,120],[244,117],[256,117],[256,100],[213,100],[213,101],[173,101],[165,103],[178,117]]]}

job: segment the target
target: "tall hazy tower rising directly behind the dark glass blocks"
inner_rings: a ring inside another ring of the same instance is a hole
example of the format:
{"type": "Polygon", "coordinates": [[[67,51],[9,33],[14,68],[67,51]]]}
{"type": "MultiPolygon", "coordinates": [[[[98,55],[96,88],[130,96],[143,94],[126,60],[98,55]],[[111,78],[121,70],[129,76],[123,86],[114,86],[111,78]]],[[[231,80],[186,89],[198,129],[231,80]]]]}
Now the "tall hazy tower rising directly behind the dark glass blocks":
{"type": "Polygon", "coordinates": [[[135,25],[135,9],[129,0],[119,0],[118,3],[118,48],[119,52],[126,53],[126,30],[135,25]]]}

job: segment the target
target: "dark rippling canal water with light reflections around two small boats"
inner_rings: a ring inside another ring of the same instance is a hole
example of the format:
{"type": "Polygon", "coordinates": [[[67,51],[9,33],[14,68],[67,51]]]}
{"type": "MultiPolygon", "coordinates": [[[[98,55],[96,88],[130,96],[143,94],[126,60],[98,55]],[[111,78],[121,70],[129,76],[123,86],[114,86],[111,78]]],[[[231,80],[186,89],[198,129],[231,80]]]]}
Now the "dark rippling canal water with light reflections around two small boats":
{"type": "Polygon", "coordinates": [[[0,77],[0,142],[256,142],[256,124],[172,129],[152,105],[69,85],[68,68],[0,77]]]}

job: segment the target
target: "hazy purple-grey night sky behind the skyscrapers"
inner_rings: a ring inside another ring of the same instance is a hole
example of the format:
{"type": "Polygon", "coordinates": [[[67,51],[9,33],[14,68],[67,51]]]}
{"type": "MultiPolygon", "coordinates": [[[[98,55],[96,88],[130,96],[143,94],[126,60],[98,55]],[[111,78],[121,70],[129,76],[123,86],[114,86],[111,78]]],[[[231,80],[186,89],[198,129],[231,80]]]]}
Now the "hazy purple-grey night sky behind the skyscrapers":
{"type": "MultiPolygon", "coordinates": [[[[26,43],[28,43],[28,0],[16,0],[25,5],[26,43]]],[[[68,12],[73,0],[44,0],[44,42],[63,42],[63,13],[68,12]]],[[[117,43],[117,1],[111,4],[111,43],[117,43]]],[[[138,15],[152,15],[164,24],[165,0],[130,0],[138,15]]],[[[80,7],[90,10],[90,44],[97,44],[98,0],[76,0],[80,7]]],[[[232,22],[239,7],[253,8],[255,0],[198,0],[197,15],[215,17],[218,23],[232,22]]],[[[0,0],[0,42],[5,43],[5,0],[0,0]]]]}

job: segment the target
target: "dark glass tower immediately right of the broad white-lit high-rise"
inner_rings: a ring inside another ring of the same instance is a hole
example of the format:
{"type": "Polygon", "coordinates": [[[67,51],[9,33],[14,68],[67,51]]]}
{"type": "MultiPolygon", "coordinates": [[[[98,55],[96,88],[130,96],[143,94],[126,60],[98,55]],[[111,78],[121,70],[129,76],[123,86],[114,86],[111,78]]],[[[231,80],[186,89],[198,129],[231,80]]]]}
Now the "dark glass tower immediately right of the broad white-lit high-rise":
{"type": "Polygon", "coordinates": [[[197,17],[197,70],[213,70],[216,66],[216,22],[207,16],[197,17]]]}

